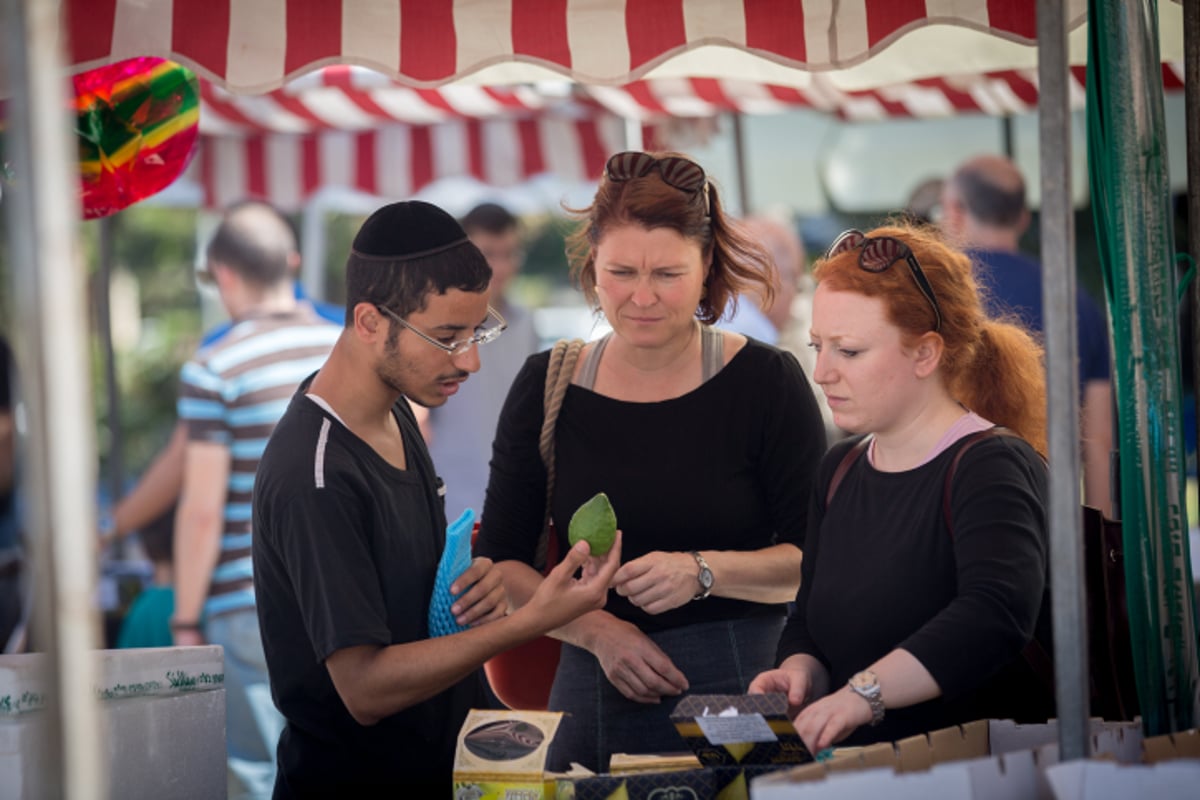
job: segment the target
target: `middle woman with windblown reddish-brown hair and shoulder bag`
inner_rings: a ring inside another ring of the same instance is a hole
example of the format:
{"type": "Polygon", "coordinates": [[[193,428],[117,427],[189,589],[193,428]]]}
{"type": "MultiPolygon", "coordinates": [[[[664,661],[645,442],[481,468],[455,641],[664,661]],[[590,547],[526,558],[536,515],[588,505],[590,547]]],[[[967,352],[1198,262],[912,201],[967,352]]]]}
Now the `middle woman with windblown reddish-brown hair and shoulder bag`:
{"type": "MultiPolygon", "coordinates": [[[[772,266],[700,164],[618,154],[581,216],[572,269],[613,331],[563,398],[550,510],[562,552],[572,512],[607,493],[624,564],[602,610],[554,632],[550,706],[570,714],[551,768],[605,770],[678,740],[677,696],[744,692],[773,663],[824,431],[794,356],[712,327],[739,293],[769,293],[772,266]]],[[[547,365],[532,356],[504,404],[475,549],[517,606],[541,581],[547,365]]]]}

